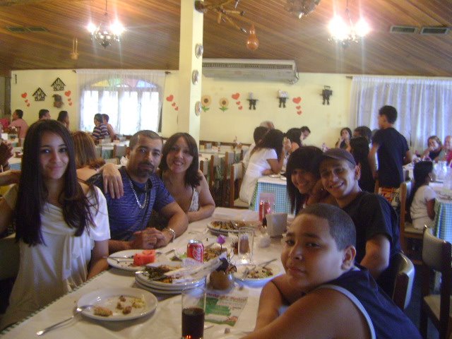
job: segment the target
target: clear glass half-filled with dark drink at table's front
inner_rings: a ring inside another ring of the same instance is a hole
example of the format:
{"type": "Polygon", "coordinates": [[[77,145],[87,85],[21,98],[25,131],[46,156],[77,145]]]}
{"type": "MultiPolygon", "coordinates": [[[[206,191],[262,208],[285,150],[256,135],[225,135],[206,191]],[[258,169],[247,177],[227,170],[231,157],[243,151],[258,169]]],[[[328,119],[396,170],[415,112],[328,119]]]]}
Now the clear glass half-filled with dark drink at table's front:
{"type": "Polygon", "coordinates": [[[182,339],[202,339],[206,289],[195,287],[182,291],[182,339]]]}

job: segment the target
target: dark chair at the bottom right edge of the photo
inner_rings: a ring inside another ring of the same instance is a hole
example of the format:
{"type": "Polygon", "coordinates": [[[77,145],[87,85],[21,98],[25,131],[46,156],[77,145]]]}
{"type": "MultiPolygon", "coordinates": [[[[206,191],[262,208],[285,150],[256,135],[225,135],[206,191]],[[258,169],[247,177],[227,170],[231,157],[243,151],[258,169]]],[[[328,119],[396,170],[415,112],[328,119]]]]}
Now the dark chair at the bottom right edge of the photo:
{"type": "Polygon", "coordinates": [[[435,237],[429,228],[422,241],[422,262],[420,332],[427,338],[430,319],[439,331],[439,339],[446,339],[451,334],[452,245],[435,237]],[[439,295],[430,293],[435,272],[441,273],[439,295]]]}

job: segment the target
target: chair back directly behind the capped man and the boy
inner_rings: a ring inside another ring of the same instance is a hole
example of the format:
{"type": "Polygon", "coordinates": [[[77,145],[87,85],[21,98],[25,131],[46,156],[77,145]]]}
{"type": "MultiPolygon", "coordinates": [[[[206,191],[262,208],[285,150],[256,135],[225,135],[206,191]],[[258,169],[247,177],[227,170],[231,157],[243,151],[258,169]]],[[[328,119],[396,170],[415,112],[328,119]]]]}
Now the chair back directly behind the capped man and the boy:
{"type": "Polygon", "coordinates": [[[393,302],[402,311],[408,307],[411,300],[412,284],[415,281],[415,266],[403,253],[398,254],[398,272],[394,283],[393,302]]]}

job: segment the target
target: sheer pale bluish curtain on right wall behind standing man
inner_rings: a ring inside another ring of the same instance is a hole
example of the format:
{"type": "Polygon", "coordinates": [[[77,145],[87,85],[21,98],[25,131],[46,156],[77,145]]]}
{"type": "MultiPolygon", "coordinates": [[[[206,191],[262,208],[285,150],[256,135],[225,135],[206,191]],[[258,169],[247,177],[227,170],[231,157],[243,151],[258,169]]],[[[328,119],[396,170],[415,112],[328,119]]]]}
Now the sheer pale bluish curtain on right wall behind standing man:
{"type": "Polygon", "coordinates": [[[452,81],[427,78],[353,76],[350,126],[378,128],[378,111],[396,107],[395,127],[411,149],[427,148],[427,138],[441,140],[452,132],[452,81]]]}

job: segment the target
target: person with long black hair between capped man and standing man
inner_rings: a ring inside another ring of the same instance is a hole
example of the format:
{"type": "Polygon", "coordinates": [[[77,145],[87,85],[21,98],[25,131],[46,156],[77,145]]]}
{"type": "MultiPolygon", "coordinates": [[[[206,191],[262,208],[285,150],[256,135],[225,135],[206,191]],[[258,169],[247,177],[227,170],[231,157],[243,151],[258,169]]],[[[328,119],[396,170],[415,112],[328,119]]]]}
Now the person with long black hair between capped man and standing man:
{"type": "MultiPolygon", "coordinates": [[[[369,130],[370,131],[370,130],[369,130]]],[[[352,153],[355,162],[359,166],[361,175],[359,177],[359,187],[363,191],[374,193],[375,179],[370,170],[369,160],[369,140],[363,136],[357,136],[350,139],[350,153],[352,153]]]]}

